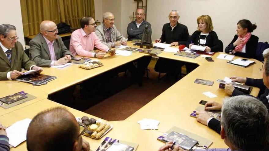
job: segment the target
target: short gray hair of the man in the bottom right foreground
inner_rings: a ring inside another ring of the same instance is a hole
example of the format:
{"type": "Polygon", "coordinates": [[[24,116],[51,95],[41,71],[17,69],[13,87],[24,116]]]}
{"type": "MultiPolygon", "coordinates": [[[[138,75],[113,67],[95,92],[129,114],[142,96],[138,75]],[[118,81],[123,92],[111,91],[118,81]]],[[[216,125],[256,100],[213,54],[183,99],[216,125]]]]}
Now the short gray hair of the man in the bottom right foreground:
{"type": "Polygon", "coordinates": [[[252,96],[234,96],[224,100],[221,114],[227,139],[239,150],[261,150],[267,146],[269,116],[261,101],[252,96]]]}

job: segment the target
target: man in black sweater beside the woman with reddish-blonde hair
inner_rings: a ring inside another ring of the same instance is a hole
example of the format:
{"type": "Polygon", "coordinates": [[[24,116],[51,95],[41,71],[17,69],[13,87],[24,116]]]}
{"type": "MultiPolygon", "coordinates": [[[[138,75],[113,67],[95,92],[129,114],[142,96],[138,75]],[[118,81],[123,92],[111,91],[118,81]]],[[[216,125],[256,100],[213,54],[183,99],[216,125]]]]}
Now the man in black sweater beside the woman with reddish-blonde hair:
{"type": "MultiPolygon", "coordinates": [[[[163,33],[160,39],[156,39],[157,42],[165,42],[171,46],[185,45],[189,39],[188,28],[179,23],[179,11],[171,10],[168,16],[170,23],[166,23],[163,26],[163,33]]],[[[156,65],[155,71],[160,73],[167,73],[169,76],[175,76],[177,79],[178,74],[181,73],[181,67],[184,63],[176,60],[159,58],[156,65]]]]}

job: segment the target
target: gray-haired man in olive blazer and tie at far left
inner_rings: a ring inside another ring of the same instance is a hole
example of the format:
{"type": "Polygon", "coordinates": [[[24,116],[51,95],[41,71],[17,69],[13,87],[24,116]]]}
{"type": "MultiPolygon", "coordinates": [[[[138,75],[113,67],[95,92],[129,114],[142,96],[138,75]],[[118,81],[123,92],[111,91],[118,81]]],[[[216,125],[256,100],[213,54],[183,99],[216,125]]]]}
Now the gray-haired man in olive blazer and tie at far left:
{"type": "Polygon", "coordinates": [[[15,26],[0,25],[0,80],[17,79],[23,75],[21,68],[26,70],[42,69],[28,58],[17,39],[15,26]]]}

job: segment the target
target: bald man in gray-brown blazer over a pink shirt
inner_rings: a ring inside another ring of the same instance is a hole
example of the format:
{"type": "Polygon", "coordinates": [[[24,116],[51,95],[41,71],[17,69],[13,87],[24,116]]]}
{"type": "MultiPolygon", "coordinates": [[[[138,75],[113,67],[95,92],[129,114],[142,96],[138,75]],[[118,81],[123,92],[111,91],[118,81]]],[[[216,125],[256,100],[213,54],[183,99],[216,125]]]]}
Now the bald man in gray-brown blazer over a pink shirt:
{"type": "Polygon", "coordinates": [[[56,24],[44,20],[40,33],[30,41],[30,58],[40,67],[63,65],[71,60],[72,53],[65,47],[56,24]]]}

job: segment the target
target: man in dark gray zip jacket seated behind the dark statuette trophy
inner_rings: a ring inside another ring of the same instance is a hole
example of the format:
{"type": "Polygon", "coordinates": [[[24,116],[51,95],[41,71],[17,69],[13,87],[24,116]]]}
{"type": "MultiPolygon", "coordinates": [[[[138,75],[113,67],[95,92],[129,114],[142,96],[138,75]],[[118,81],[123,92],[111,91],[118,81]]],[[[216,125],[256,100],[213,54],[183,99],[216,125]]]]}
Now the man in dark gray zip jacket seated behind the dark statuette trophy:
{"type": "Polygon", "coordinates": [[[135,16],[136,20],[129,23],[127,27],[128,41],[132,41],[133,39],[142,39],[142,33],[146,25],[148,25],[151,35],[151,25],[144,20],[145,10],[142,8],[136,9],[135,16]]]}

